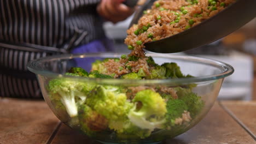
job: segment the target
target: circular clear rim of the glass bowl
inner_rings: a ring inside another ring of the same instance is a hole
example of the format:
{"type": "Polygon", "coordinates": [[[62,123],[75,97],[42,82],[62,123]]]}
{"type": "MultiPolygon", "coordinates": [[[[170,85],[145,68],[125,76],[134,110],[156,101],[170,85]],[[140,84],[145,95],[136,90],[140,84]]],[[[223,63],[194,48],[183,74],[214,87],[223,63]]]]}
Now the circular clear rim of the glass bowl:
{"type": "MultiPolygon", "coordinates": [[[[188,77],[188,78],[180,78],[180,79],[156,79],[156,80],[136,80],[136,79],[94,79],[89,77],[77,77],[77,76],[67,76],[59,73],[53,73],[52,71],[40,70],[38,68],[39,64],[46,61],[53,61],[59,59],[72,59],[72,58],[89,58],[89,57],[120,57],[124,53],[80,53],[80,54],[65,54],[65,55],[55,55],[48,56],[39,59],[35,59],[33,61],[28,62],[27,68],[32,71],[32,73],[43,75],[46,77],[66,77],[69,79],[75,79],[78,81],[85,82],[97,82],[97,83],[106,83],[106,84],[122,84],[122,83],[131,83],[131,84],[177,84],[177,83],[194,83],[194,82],[203,82],[203,81],[211,81],[217,79],[223,79],[226,76],[234,73],[234,68],[226,64],[224,62],[216,61],[210,58],[203,58],[199,56],[187,56],[187,55],[170,55],[164,53],[147,53],[147,56],[158,57],[158,58],[169,58],[169,59],[177,59],[181,61],[189,61],[193,63],[201,63],[206,65],[211,65],[212,67],[216,67],[218,69],[225,69],[222,73],[215,75],[205,75],[205,76],[197,76],[197,77],[188,77]]],[[[127,54],[127,53],[125,53],[127,54]]]]}

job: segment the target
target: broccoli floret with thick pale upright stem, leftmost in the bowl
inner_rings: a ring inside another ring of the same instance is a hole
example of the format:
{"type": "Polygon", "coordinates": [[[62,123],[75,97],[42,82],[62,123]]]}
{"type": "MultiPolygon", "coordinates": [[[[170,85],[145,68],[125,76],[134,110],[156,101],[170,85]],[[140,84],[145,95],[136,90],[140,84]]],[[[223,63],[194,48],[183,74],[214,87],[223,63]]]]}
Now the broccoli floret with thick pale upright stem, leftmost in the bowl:
{"type": "Polygon", "coordinates": [[[77,103],[84,103],[86,94],[93,87],[88,83],[58,78],[49,81],[48,91],[51,100],[59,101],[65,107],[68,115],[75,117],[77,116],[77,103]]]}

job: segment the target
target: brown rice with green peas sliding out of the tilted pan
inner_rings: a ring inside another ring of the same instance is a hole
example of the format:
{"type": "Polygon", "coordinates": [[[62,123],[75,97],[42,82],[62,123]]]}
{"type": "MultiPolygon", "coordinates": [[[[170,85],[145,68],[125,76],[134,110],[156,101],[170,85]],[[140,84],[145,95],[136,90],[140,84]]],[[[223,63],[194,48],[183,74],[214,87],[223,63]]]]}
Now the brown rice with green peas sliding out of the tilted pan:
{"type": "Polygon", "coordinates": [[[235,0],[155,1],[151,9],[144,11],[138,23],[127,30],[125,44],[132,50],[130,55],[144,57],[144,52],[141,51],[144,43],[170,37],[194,27],[234,2],[235,0]]]}

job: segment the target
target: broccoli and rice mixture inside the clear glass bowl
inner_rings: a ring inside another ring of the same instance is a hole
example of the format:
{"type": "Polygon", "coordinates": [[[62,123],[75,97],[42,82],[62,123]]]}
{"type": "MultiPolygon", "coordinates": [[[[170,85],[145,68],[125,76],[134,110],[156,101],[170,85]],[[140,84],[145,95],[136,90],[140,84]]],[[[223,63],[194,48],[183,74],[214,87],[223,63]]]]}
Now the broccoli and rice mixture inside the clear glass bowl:
{"type": "MultiPolygon", "coordinates": [[[[65,75],[95,79],[179,79],[192,77],[182,74],[176,63],[158,65],[152,57],[138,65],[139,59],[106,58],[92,63],[88,73],[74,67],[65,75]],[[126,60],[125,60],[126,59],[126,60]],[[110,64],[112,63],[112,64],[110,64]],[[126,63],[126,66],[121,65],[126,63]],[[120,64],[116,66],[117,64],[120,64]],[[145,66],[150,68],[144,72],[145,66]],[[111,65],[111,66],[110,66],[111,65]],[[114,65],[114,66],[113,66],[114,65]],[[111,69],[119,67],[119,69],[111,69]],[[128,72],[127,72],[128,71],[128,72]]],[[[188,125],[197,116],[204,101],[191,89],[183,86],[113,86],[69,80],[59,77],[49,81],[48,92],[55,109],[66,110],[71,120],[68,125],[79,127],[86,135],[97,136],[104,131],[121,138],[132,135],[145,139],[161,130],[172,130],[188,125]]],[[[173,130],[175,131],[175,130],[173,130]]],[[[178,132],[177,131],[177,134],[178,132]]]]}

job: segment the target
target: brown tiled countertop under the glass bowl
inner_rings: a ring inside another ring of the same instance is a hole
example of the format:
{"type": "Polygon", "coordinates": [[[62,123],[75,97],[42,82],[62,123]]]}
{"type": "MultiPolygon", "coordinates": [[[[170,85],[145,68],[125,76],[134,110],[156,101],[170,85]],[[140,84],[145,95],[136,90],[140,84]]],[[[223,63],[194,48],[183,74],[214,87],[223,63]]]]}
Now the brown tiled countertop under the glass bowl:
{"type": "MultiPolygon", "coordinates": [[[[256,143],[256,101],[216,101],[202,121],[163,143],[256,143]]],[[[0,144],[98,142],[62,124],[43,100],[0,98],[0,144]]]]}

